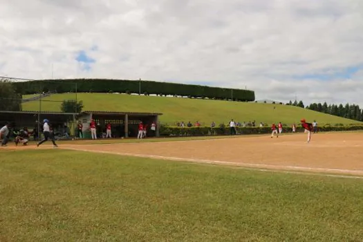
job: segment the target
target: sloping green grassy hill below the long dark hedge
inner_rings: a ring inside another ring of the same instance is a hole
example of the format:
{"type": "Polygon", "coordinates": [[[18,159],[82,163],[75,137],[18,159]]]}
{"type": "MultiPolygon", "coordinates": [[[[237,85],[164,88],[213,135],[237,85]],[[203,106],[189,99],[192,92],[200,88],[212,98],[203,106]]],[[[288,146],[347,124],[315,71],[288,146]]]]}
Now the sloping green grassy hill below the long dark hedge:
{"type": "MultiPolygon", "coordinates": [[[[26,98],[28,96],[24,96],[26,98]]],[[[45,97],[41,103],[41,111],[60,111],[62,101],[75,99],[74,93],[55,94],[45,97]]],[[[231,118],[239,122],[256,120],[259,122],[283,122],[284,124],[299,123],[301,118],[309,122],[317,120],[319,124],[352,124],[348,120],[333,115],[301,109],[296,106],[280,104],[261,104],[253,102],[227,102],[217,100],[195,100],[180,97],[155,97],[111,93],[78,93],[78,100],[83,100],[84,110],[93,111],[133,111],[163,113],[161,122],[175,124],[176,122],[196,122],[210,125],[227,123],[231,118]]],[[[23,104],[24,111],[38,111],[39,101],[23,104]]]]}

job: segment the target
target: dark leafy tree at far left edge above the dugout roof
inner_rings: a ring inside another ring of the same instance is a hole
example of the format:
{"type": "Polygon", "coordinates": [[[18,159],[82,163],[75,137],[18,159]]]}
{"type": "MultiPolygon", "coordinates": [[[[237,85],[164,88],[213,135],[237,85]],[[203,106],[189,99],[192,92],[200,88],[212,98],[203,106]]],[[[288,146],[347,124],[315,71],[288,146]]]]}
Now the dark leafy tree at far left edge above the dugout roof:
{"type": "Polygon", "coordinates": [[[21,94],[8,80],[0,80],[0,110],[21,111],[21,94]]]}

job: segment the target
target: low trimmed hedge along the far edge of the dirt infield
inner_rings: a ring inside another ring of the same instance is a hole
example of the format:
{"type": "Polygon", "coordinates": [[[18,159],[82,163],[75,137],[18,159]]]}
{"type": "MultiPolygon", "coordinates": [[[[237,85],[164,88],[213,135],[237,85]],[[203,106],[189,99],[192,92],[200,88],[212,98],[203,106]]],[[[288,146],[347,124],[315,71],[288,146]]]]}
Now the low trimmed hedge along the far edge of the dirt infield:
{"type": "MultiPolygon", "coordinates": [[[[270,127],[237,127],[237,134],[261,134],[272,133],[270,127]]],[[[363,125],[355,126],[325,126],[319,127],[318,132],[329,131],[357,131],[363,130],[363,125]]],[[[304,132],[304,129],[297,127],[297,133],[304,132]]],[[[292,133],[292,128],[286,127],[283,129],[283,133],[292,133]]],[[[209,127],[192,127],[192,128],[180,128],[180,127],[165,127],[160,126],[160,136],[225,136],[230,134],[229,128],[209,128],[209,127]]]]}

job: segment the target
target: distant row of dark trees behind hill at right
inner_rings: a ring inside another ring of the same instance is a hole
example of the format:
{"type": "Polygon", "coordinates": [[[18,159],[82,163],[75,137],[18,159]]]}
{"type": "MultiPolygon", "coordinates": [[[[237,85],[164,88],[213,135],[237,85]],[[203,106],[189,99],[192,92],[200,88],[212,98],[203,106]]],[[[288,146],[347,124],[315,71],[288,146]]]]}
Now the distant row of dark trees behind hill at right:
{"type": "Polygon", "coordinates": [[[308,106],[304,106],[302,101],[297,102],[297,100],[295,100],[295,102],[290,101],[286,105],[300,106],[303,109],[306,108],[320,113],[327,113],[342,118],[363,121],[363,109],[360,109],[360,106],[357,104],[327,104],[326,102],[322,104],[320,102],[313,102],[308,106]]]}

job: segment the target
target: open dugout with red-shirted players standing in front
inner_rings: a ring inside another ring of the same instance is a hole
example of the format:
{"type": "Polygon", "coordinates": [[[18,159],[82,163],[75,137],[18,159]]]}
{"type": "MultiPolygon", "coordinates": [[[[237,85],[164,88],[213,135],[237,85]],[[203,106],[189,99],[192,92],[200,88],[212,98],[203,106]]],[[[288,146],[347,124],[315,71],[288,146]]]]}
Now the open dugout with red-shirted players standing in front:
{"type": "Polygon", "coordinates": [[[132,112],[109,112],[109,111],[83,111],[77,115],[77,122],[82,122],[84,138],[91,138],[89,124],[91,120],[97,123],[97,137],[104,136],[106,124],[111,123],[111,133],[113,138],[136,137],[138,134],[138,124],[147,124],[147,136],[158,137],[159,125],[158,117],[162,113],[132,113],[132,112]],[[150,130],[151,124],[155,122],[156,131],[150,130]]]}

